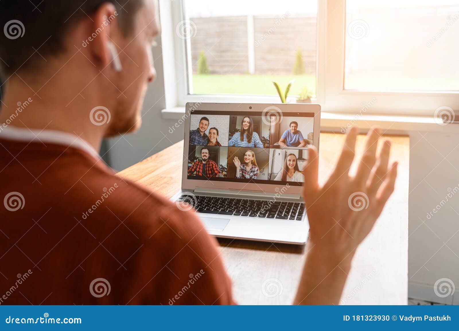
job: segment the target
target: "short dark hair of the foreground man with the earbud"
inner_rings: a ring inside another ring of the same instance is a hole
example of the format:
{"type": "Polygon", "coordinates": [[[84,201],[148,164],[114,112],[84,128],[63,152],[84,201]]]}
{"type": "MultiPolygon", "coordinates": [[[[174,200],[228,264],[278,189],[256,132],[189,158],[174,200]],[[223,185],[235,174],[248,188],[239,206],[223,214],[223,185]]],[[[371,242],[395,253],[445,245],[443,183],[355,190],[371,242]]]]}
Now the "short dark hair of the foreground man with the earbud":
{"type": "MultiPolygon", "coordinates": [[[[2,1],[1,71],[11,75],[18,70],[37,69],[37,64],[44,62],[42,56],[48,59],[64,50],[66,35],[76,22],[89,19],[88,16],[106,2],[115,6],[122,33],[129,36],[133,31],[135,14],[144,5],[144,0],[2,1]]],[[[107,21],[110,20],[107,18],[107,21]]],[[[75,46],[79,49],[82,44],[75,46]]]]}

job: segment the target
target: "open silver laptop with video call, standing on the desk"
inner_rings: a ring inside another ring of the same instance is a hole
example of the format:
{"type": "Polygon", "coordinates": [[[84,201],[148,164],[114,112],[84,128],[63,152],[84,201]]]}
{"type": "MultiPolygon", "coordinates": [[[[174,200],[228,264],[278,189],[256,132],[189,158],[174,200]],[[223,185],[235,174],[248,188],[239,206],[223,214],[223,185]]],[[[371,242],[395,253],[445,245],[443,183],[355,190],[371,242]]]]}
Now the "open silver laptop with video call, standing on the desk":
{"type": "Polygon", "coordinates": [[[308,145],[319,149],[320,105],[187,103],[183,120],[177,207],[216,237],[306,243],[302,170],[308,145]]]}

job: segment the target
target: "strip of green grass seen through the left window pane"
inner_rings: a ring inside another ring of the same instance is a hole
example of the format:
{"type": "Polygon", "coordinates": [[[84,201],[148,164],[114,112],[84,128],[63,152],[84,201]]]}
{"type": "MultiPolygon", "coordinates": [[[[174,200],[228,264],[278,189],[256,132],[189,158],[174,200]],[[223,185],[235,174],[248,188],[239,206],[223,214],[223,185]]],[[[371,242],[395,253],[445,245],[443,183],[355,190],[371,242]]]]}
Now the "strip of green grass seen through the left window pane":
{"type": "Polygon", "coordinates": [[[289,96],[296,96],[308,86],[315,94],[315,76],[308,75],[213,75],[194,74],[193,94],[260,94],[278,95],[273,81],[285,90],[288,82],[295,79],[289,96]]]}

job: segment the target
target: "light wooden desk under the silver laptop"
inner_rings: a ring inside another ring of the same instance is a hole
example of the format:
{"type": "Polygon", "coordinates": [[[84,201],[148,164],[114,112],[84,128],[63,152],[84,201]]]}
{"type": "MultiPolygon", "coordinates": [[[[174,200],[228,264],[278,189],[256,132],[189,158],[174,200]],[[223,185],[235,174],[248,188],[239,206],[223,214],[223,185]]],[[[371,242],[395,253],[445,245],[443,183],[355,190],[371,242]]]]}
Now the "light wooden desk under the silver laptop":
{"type": "MultiPolygon", "coordinates": [[[[341,304],[407,304],[409,138],[389,138],[391,159],[399,161],[396,188],[375,228],[358,248],[341,304]]],[[[322,183],[333,170],[343,141],[341,134],[320,134],[319,180],[322,183]]],[[[356,157],[360,157],[363,149],[364,136],[360,135],[356,157]]],[[[182,158],[183,141],[118,174],[172,197],[180,189],[178,174],[182,158]]],[[[231,239],[218,242],[238,303],[290,304],[293,301],[304,263],[304,246],[231,239]],[[278,294],[266,296],[262,287],[265,293],[269,294],[271,287],[278,294]]]]}

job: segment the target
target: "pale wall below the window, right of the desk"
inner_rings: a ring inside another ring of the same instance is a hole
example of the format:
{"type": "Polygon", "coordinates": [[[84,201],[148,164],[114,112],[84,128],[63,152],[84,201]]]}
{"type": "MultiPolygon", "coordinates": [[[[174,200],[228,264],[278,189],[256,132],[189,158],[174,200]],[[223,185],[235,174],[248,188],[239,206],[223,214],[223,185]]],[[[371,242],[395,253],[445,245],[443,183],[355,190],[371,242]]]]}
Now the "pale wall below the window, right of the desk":
{"type": "Polygon", "coordinates": [[[458,144],[459,126],[458,134],[410,132],[408,294],[412,298],[459,304],[458,144]],[[434,285],[441,278],[453,282],[453,296],[436,295],[434,285]]]}

